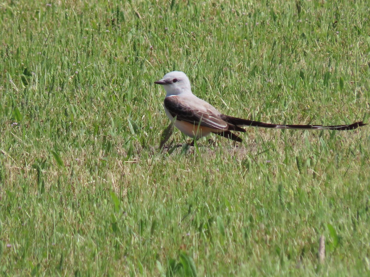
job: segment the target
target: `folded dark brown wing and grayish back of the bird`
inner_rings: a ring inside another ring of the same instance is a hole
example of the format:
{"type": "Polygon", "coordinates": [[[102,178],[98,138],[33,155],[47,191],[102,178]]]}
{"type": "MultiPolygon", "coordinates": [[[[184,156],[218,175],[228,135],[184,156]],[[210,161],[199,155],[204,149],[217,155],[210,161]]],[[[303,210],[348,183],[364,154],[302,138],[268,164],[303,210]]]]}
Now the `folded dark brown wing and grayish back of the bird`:
{"type": "Polygon", "coordinates": [[[171,95],[164,99],[164,106],[177,120],[217,130],[228,130],[228,123],[221,119],[218,110],[197,97],[171,95]]]}

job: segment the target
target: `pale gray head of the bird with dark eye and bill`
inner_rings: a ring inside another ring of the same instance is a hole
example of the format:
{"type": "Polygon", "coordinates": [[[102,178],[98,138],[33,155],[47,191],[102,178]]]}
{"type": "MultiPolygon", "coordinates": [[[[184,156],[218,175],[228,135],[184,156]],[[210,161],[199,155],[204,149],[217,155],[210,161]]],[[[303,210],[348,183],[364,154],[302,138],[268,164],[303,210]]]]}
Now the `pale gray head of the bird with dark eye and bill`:
{"type": "Polygon", "coordinates": [[[163,79],[154,82],[163,85],[166,97],[179,95],[180,93],[191,93],[191,85],[188,76],[182,71],[172,71],[164,75],[163,79]]]}

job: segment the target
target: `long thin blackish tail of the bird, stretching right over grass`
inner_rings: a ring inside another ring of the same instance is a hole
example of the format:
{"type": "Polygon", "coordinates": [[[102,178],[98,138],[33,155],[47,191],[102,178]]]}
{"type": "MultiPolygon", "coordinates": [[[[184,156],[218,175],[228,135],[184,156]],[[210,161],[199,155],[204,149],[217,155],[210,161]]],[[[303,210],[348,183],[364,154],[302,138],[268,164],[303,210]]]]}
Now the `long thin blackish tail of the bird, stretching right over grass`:
{"type": "Polygon", "coordinates": [[[227,123],[234,125],[236,131],[241,131],[241,126],[253,126],[253,127],[264,127],[264,128],[275,128],[275,129],[301,129],[301,130],[310,130],[310,129],[329,129],[329,130],[353,130],[357,129],[360,126],[367,125],[367,123],[355,122],[347,125],[332,125],[332,126],[322,126],[322,125],[281,125],[281,124],[272,124],[264,123],[255,120],[241,119],[238,117],[221,115],[221,118],[227,123]]]}

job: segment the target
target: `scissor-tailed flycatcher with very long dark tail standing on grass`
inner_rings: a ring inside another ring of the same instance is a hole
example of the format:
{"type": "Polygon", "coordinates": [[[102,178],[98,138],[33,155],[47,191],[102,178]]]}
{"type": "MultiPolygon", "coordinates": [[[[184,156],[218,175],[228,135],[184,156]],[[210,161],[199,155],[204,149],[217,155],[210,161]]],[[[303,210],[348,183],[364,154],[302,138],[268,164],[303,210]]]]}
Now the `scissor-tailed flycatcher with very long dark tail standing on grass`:
{"type": "Polygon", "coordinates": [[[362,121],[348,125],[281,125],[241,119],[220,113],[215,107],[196,97],[191,92],[188,76],[181,71],[167,73],[163,79],[154,82],[163,85],[166,90],[164,109],[172,121],[176,117],[175,126],[192,138],[200,138],[210,133],[241,142],[242,139],[231,131],[246,132],[242,126],[255,126],[276,129],[330,129],[352,130],[364,126],[362,121]]]}

